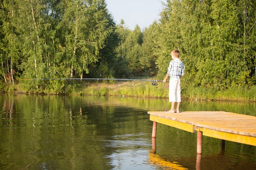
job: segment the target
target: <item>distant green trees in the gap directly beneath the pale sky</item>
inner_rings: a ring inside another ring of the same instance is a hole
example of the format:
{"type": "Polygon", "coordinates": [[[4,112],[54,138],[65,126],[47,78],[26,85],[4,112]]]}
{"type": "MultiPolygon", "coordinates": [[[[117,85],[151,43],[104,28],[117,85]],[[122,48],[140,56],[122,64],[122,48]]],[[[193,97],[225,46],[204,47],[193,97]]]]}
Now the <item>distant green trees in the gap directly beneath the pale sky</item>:
{"type": "Polygon", "coordinates": [[[150,31],[146,29],[142,32],[138,25],[133,31],[130,31],[124,24],[121,21],[121,24],[117,26],[117,34],[120,39],[119,45],[116,48],[119,58],[118,65],[121,64],[121,67],[125,65],[124,68],[126,70],[121,69],[121,73],[128,76],[155,75],[156,57],[152,54],[154,42],[151,40],[151,33],[154,31],[154,26],[151,27],[150,31]]]}

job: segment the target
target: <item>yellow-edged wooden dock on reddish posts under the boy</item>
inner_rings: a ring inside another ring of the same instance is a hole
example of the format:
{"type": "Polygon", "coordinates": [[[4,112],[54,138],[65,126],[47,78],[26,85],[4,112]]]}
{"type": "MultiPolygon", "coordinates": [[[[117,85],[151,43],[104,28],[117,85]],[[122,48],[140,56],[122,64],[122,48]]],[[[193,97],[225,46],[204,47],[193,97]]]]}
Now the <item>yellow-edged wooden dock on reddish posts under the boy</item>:
{"type": "Polygon", "coordinates": [[[197,154],[201,154],[202,135],[256,146],[256,117],[222,111],[148,112],[153,121],[152,138],[157,123],[194,133],[197,131],[197,154]]]}

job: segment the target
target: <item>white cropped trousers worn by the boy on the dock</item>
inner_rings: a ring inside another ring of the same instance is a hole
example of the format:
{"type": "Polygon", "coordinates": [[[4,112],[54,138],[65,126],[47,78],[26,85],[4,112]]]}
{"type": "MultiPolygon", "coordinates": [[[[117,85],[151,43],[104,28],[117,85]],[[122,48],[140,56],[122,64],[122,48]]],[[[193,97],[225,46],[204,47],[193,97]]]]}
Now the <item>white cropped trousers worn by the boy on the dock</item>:
{"type": "Polygon", "coordinates": [[[180,79],[172,78],[169,82],[169,101],[180,102],[180,79]]]}

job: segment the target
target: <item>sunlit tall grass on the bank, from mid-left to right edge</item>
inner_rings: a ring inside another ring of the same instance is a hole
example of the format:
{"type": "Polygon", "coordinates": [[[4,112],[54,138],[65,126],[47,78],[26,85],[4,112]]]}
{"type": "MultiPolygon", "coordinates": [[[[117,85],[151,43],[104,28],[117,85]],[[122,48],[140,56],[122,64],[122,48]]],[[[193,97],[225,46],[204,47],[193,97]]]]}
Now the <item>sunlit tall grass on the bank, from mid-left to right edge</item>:
{"type": "MultiPolygon", "coordinates": [[[[92,84],[80,92],[79,95],[98,96],[135,96],[168,98],[168,83],[159,82],[158,86],[152,86],[148,82],[125,82],[118,84],[92,84]]],[[[256,101],[256,86],[230,87],[229,89],[216,91],[213,88],[183,87],[181,96],[189,100],[230,100],[230,101],[256,101]]]]}

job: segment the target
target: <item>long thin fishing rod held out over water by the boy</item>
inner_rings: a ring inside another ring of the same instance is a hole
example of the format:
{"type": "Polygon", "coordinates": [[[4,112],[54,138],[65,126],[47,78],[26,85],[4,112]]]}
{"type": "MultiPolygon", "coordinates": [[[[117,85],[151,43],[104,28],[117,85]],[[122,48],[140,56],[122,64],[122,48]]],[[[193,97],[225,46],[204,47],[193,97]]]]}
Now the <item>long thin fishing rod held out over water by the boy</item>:
{"type": "Polygon", "coordinates": [[[145,79],[104,79],[104,78],[45,78],[45,79],[17,79],[20,80],[117,80],[117,81],[133,81],[133,82],[153,82],[153,86],[158,86],[157,82],[163,82],[163,80],[145,80],[145,79]]]}

